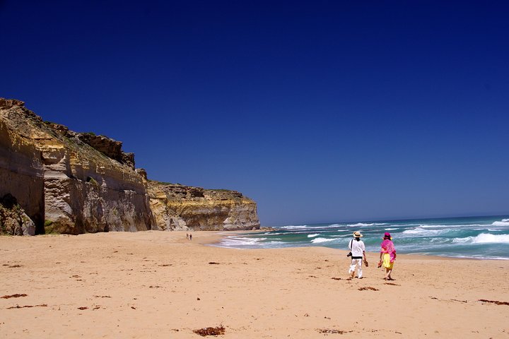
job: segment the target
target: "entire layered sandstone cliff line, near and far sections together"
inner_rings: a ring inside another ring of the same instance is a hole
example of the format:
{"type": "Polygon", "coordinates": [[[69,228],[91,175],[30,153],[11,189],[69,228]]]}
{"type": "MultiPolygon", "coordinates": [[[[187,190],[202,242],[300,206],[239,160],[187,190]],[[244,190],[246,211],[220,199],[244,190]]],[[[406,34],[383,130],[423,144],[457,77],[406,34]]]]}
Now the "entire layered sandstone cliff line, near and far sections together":
{"type": "Polygon", "coordinates": [[[121,142],[2,98],[1,201],[0,234],[259,228],[256,203],[242,194],[148,181],[121,142]]]}

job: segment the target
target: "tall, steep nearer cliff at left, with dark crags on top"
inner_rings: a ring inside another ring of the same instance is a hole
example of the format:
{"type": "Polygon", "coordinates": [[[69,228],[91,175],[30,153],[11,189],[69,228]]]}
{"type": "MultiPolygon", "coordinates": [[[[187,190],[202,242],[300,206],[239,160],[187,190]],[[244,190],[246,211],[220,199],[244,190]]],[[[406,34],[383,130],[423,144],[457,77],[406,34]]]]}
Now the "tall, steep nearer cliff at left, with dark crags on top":
{"type": "Polygon", "coordinates": [[[122,143],[42,121],[0,99],[0,197],[11,194],[38,232],[150,230],[144,180],[122,143]]]}

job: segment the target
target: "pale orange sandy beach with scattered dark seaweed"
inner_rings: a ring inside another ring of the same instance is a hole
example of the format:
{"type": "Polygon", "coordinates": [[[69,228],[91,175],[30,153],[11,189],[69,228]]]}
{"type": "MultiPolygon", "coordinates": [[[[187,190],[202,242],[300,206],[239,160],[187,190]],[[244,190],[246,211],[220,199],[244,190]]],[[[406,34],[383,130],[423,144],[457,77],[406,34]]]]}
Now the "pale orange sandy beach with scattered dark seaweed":
{"type": "Polygon", "coordinates": [[[235,250],[218,232],[0,237],[0,338],[509,338],[509,261],[235,250]],[[214,337],[208,337],[214,338],[214,337]]]}

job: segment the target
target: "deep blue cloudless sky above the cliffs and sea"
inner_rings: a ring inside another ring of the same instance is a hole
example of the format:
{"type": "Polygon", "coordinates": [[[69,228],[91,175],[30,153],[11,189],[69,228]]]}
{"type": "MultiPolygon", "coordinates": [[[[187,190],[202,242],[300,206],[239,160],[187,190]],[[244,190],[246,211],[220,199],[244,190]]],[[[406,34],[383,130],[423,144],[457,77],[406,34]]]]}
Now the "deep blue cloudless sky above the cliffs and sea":
{"type": "Polygon", "coordinates": [[[0,0],[0,96],[262,225],[509,213],[506,1],[0,0]]]}

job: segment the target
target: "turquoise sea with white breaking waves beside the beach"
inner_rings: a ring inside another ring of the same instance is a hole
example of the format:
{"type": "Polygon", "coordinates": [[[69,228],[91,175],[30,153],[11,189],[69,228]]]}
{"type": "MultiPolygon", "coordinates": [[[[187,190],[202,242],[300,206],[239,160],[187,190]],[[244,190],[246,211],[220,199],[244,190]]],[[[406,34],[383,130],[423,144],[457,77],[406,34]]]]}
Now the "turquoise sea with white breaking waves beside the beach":
{"type": "Polygon", "coordinates": [[[509,215],[288,225],[271,232],[231,235],[218,246],[236,249],[327,246],[346,250],[356,230],[363,234],[366,250],[372,252],[379,251],[383,234],[390,232],[399,254],[509,259],[509,215]]]}

